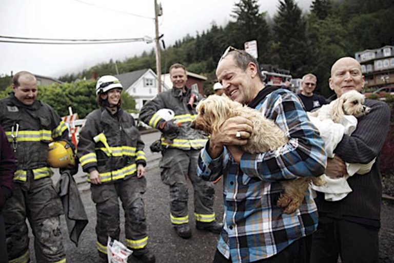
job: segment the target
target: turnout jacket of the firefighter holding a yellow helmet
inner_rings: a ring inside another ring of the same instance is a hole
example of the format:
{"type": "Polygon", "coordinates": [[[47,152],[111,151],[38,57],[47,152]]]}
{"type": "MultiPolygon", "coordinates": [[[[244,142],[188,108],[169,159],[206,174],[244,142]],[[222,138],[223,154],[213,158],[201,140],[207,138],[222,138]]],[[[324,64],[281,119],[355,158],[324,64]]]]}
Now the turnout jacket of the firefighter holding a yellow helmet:
{"type": "Polygon", "coordinates": [[[25,105],[11,92],[9,98],[0,101],[0,124],[16,151],[14,180],[26,182],[27,170],[32,170],[34,180],[52,176],[47,162],[48,144],[68,140],[67,125],[56,111],[39,100],[25,105]]]}

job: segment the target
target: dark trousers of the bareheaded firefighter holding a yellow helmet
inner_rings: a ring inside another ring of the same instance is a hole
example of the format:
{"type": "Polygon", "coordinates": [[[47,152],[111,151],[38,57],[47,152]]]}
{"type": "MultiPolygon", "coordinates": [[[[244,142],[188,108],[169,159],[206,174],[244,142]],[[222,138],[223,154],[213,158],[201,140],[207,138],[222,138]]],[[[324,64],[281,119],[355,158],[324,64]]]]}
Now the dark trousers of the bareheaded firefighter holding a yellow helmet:
{"type": "Polygon", "coordinates": [[[60,218],[62,202],[49,177],[14,183],[13,196],[7,200],[3,215],[6,225],[9,262],[29,261],[29,237],[26,218],[34,235],[37,262],[65,262],[60,218]]]}

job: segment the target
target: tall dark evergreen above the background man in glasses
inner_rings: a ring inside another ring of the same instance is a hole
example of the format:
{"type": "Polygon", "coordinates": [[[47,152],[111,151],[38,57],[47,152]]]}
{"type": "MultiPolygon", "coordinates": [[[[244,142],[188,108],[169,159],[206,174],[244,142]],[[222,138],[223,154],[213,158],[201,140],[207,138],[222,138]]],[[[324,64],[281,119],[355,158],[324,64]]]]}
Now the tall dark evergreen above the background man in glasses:
{"type": "Polygon", "coordinates": [[[296,77],[308,69],[308,45],[306,23],[302,11],[294,0],[280,0],[279,9],[273,18],[274,39],[279,54],[279,66],[289,69],[296,77]]]}

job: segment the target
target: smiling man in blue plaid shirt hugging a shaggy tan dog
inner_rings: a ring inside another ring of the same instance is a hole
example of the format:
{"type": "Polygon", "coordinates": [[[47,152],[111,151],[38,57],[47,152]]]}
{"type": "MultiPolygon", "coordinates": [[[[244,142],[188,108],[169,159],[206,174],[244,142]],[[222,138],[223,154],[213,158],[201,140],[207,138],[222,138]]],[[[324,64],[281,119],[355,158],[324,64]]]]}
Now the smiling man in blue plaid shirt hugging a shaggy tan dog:
{"type": "Polygon", "coordinates": [[[198,175],[209,181],[224,175],[224,226],[213,262],[309,262],[310,235],[318,224],[313,198],[308,191],[292,214],[284,214],[277,200],[281,180],[324,173],[323,140],[297,96],[265,86],[258,62],[245,51],[229,47],[216,76],[226,96],[260,110],[289,141],[274,151],[244,153],[239,146],[246,144],[252,123],[233,117],[202,149],[198,175]]]}

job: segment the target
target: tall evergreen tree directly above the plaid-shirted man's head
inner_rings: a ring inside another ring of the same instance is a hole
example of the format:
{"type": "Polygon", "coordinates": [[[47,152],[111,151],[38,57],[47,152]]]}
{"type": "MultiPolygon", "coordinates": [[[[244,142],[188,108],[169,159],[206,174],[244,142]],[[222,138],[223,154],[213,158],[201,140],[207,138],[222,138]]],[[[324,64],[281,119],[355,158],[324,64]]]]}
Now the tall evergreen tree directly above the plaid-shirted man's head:
{"type": "Polygon", "coordinates": [[[265,57],[269,40],[269,27],[265,20],[266,13],[260,12],[258,0],[241,0],[235,4],[233,14],[235,31],[230,39],[234,45],[243,48],[244,43],[257,40],[259,57],[265,57]]]}

